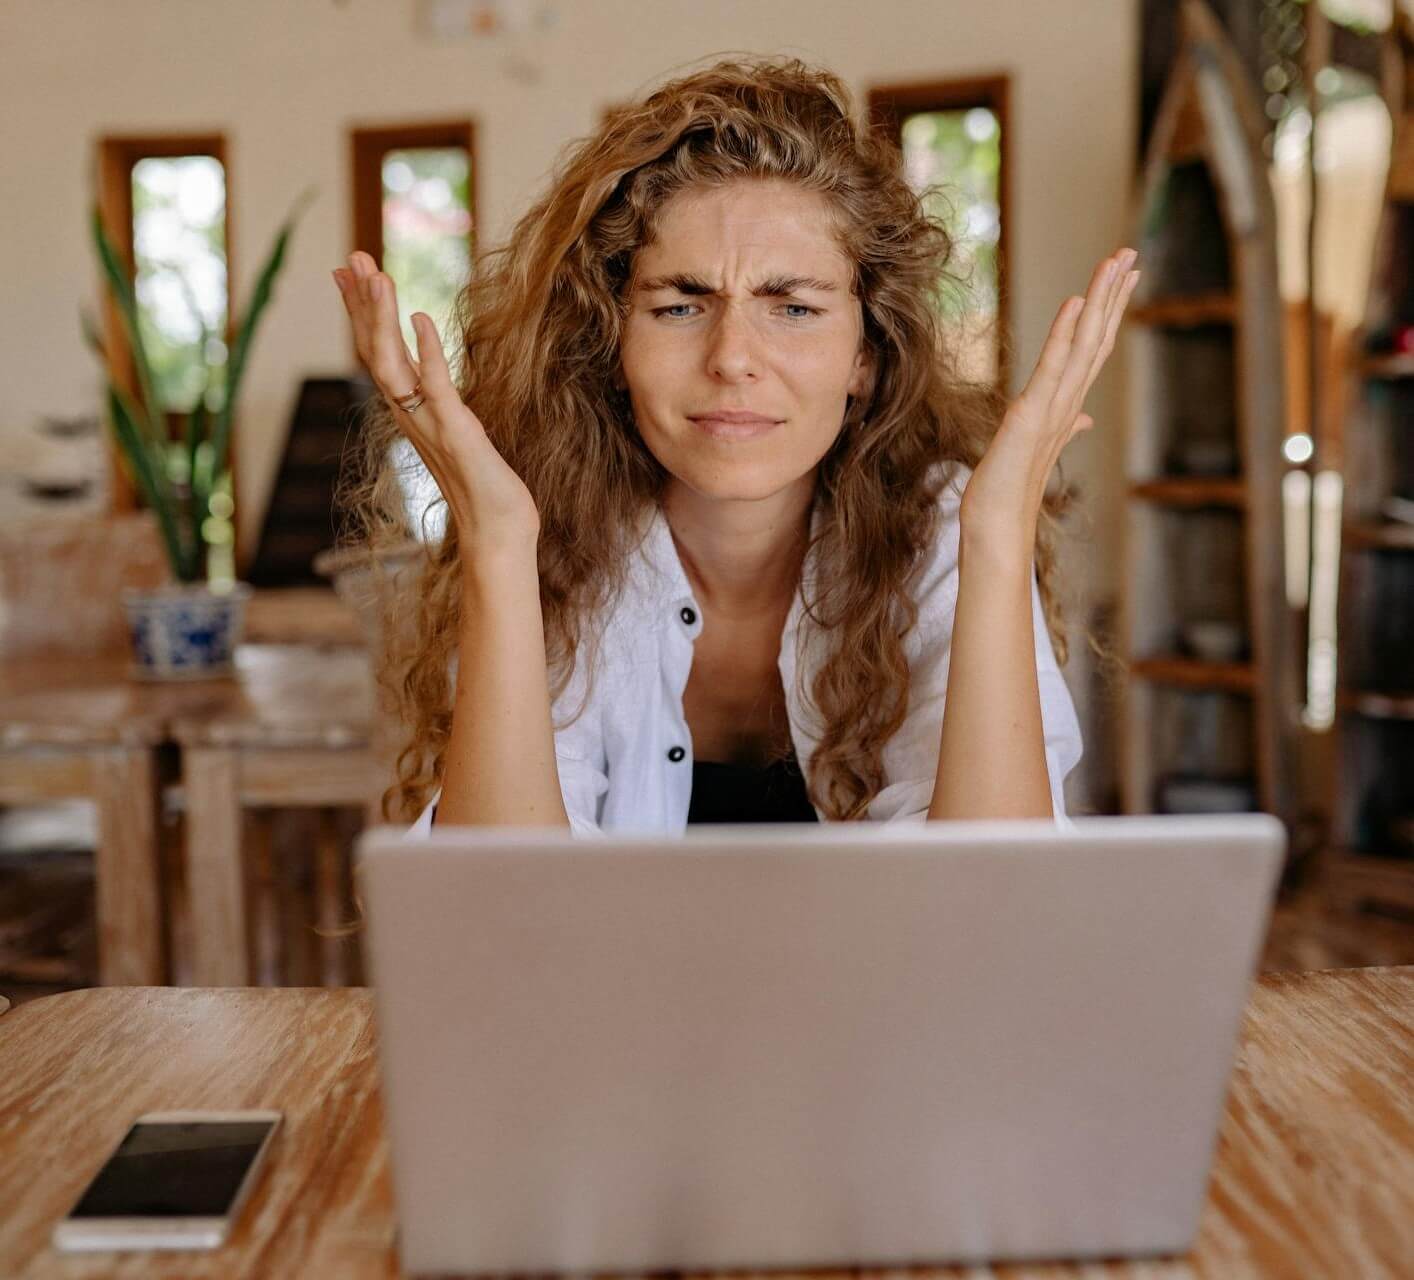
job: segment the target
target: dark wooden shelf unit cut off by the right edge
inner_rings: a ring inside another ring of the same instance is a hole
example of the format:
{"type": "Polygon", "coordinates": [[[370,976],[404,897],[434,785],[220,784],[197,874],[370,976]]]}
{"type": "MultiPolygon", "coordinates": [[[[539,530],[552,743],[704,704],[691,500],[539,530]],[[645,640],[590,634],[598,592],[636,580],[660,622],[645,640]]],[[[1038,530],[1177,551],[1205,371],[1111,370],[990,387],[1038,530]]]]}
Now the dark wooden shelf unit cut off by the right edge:
{"type": "Polygon", "coordinates": [[[1414,912],[1414,528],[1380,506],[1414,499],[1414,33],[1384,38],[1394,126],[1365,322],[1340,399],[1343,523],[1336,632],[1336,812],[1324,883],[1342,905],[1414,912]]]}

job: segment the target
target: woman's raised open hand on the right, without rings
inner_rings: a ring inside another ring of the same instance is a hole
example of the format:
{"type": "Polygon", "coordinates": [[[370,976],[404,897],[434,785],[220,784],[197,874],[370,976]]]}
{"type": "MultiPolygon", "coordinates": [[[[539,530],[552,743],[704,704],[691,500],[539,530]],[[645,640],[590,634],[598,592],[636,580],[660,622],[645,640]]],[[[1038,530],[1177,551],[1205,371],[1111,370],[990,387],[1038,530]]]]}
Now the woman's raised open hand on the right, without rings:
{"type": "Polygon", "coordinates": [[[1094,426],[1085,397],[1114,349],[1114,335],[1140,277],[1138,253],[1104,259],[1083,297],[1066,298],[1025,390],[1012,400],[987,453],[967,481],[962,519],[971,530],[1025,537],[1031,550],[1046,481],[1060,451],[1094,426]]]}

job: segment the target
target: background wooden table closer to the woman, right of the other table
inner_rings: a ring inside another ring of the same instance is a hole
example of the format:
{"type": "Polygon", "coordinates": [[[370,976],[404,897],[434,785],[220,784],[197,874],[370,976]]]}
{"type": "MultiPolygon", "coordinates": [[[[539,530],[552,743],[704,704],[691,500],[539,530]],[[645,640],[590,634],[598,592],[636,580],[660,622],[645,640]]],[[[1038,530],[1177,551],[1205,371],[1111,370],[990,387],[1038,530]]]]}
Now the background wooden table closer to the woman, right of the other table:
{"type": "Polygon", "coordinates": [[[236,662],[229,699],[171,726],[185,784],[191,977],[204,987],[250,983],[243,806],[348,805],[380,820],[390,778],[365,649],[245,645],[236,662]]]}

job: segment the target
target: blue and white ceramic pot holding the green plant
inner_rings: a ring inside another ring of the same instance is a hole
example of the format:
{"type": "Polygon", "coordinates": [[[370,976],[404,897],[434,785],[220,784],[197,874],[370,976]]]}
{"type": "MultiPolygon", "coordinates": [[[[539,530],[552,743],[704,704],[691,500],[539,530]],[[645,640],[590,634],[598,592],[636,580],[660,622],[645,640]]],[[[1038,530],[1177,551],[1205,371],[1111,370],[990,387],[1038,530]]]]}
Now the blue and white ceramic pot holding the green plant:
{"type": "Polygon", "coordinates": [[[178,583],[127,588],[123,610],[133,636],[137,680],[209,680],[236,673],[236,645],[250,587],[178,583]]]}

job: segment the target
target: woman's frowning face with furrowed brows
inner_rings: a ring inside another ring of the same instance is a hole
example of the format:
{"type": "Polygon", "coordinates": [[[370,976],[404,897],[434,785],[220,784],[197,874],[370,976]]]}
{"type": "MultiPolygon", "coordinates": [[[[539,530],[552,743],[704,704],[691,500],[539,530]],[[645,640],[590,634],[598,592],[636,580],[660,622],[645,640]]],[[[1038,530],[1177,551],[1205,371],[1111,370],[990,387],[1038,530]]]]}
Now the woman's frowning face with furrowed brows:
{"type": "Polygon", "coordinates": [[[636,255],[621,349],[633,417],[703,496],[766,498],[813,472],[867,386],[827,208],[779,181],[684,191],[636,255]]]}

